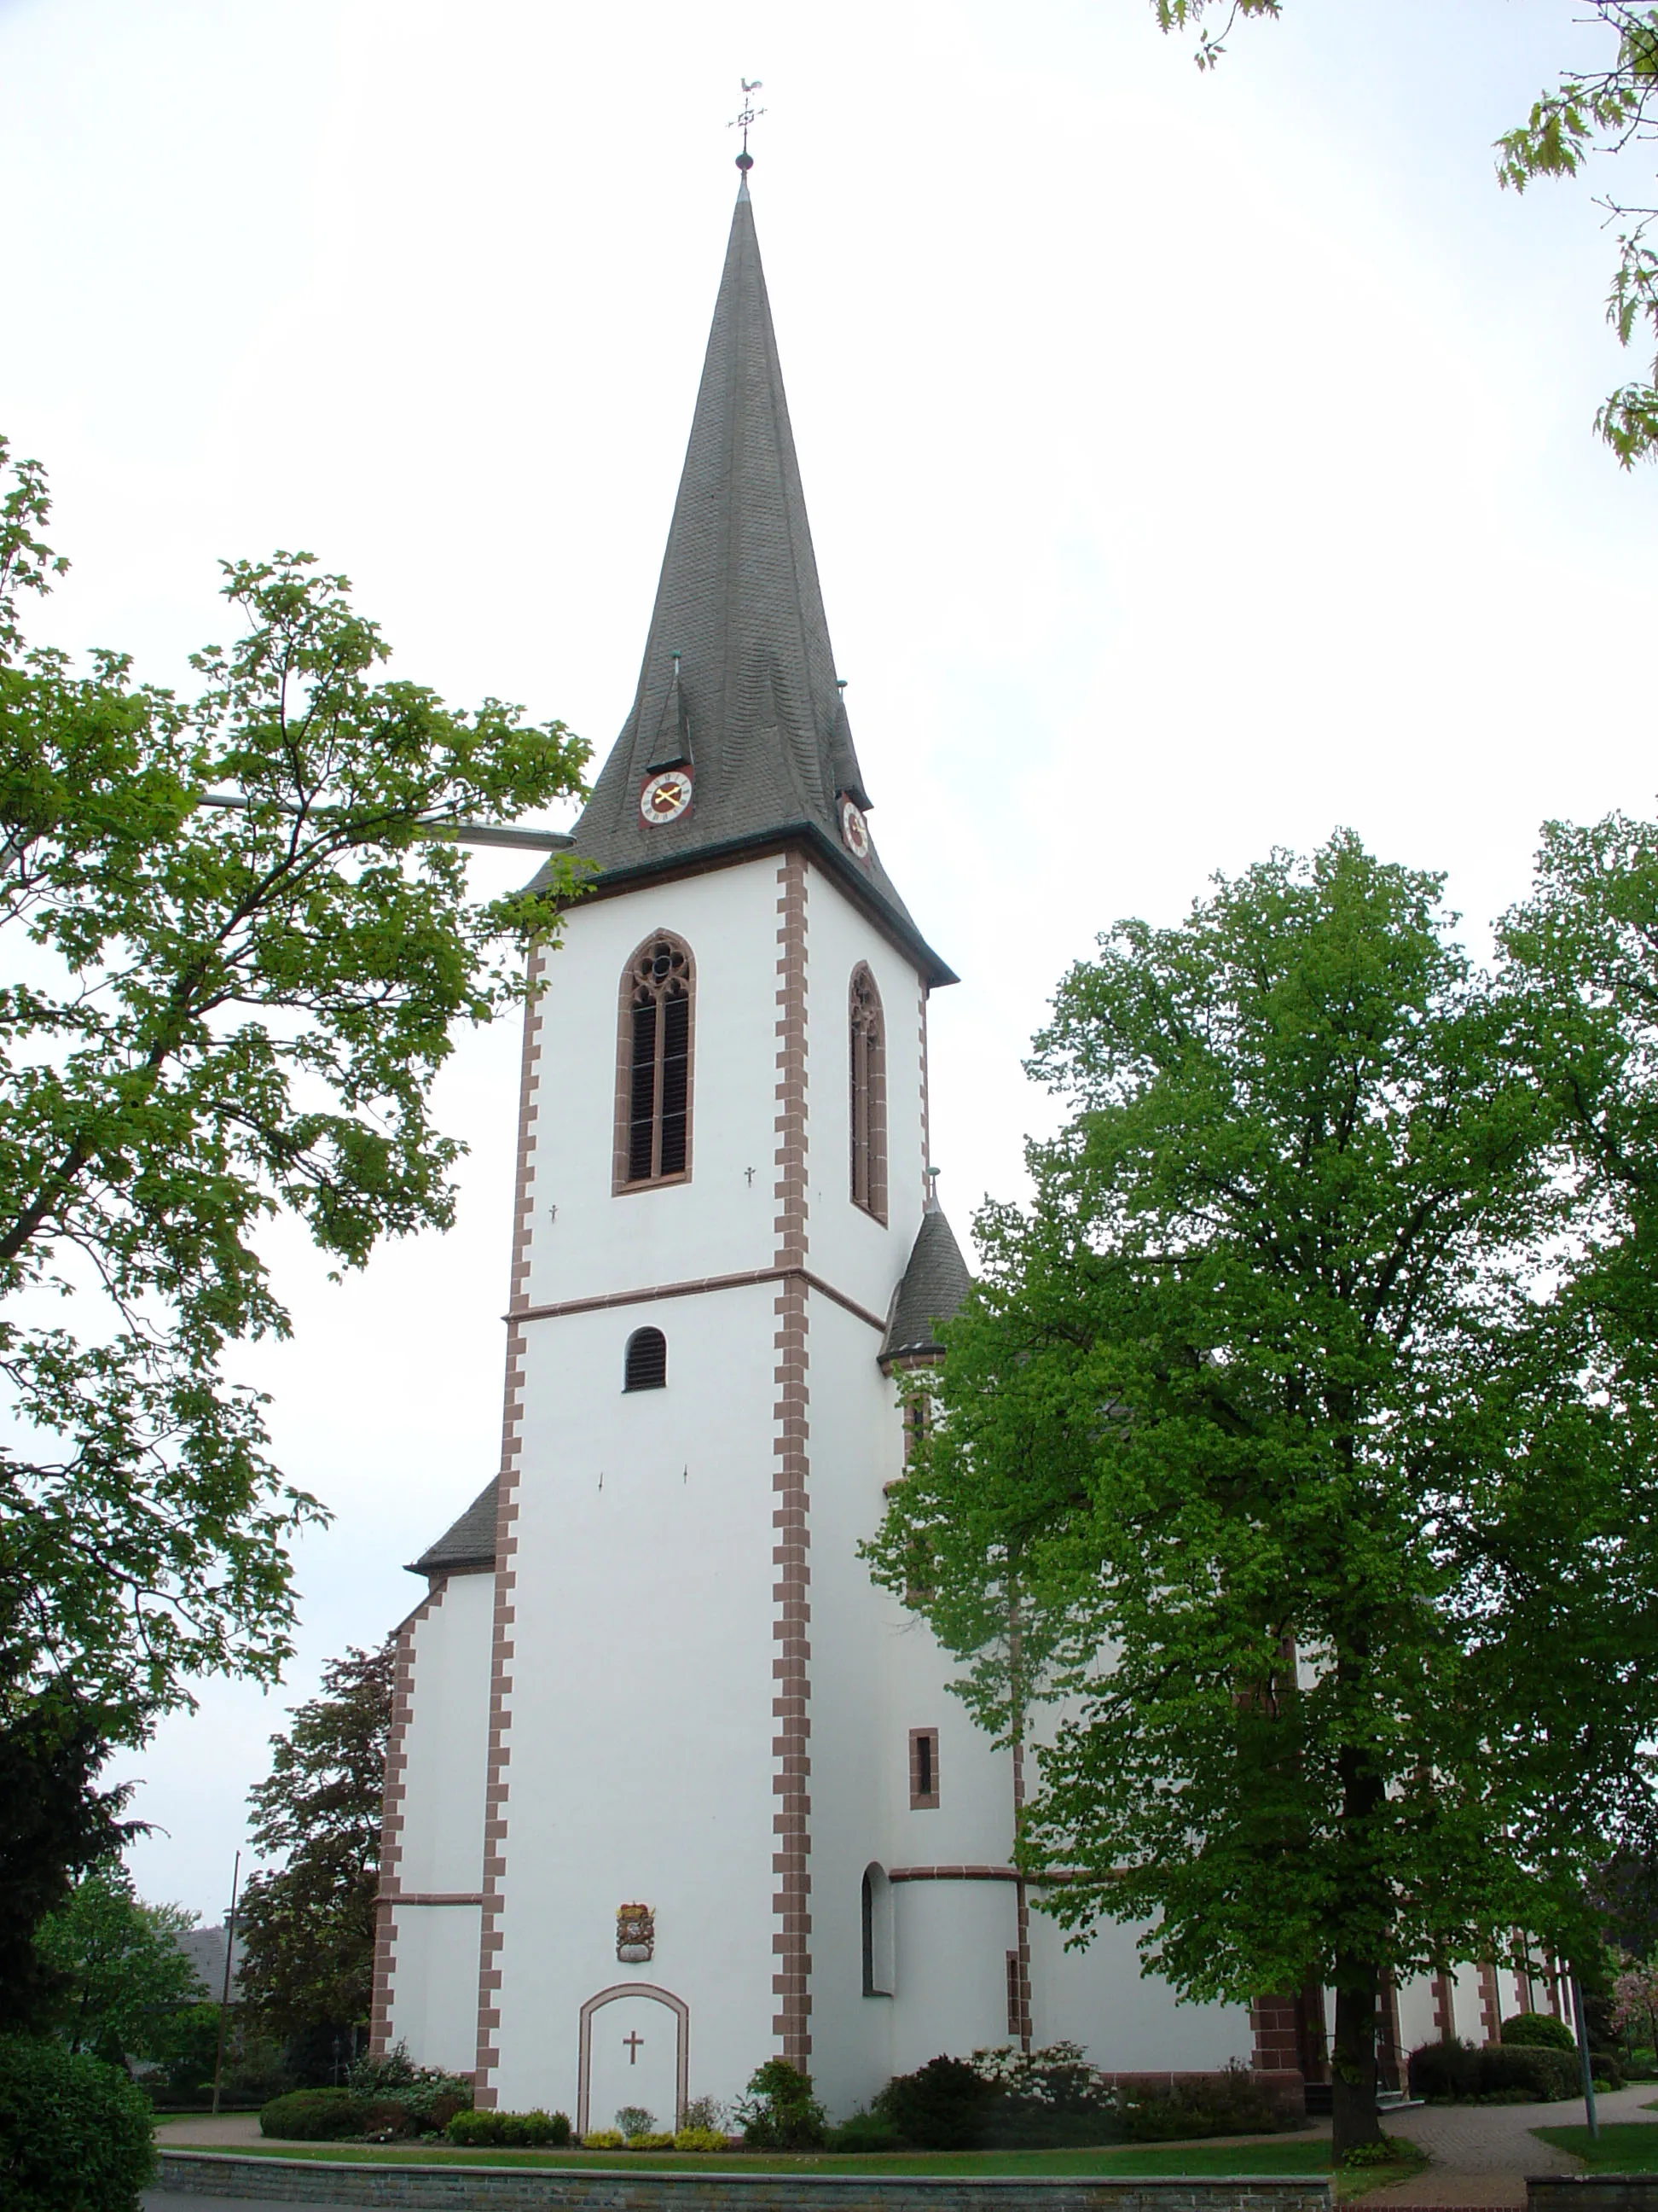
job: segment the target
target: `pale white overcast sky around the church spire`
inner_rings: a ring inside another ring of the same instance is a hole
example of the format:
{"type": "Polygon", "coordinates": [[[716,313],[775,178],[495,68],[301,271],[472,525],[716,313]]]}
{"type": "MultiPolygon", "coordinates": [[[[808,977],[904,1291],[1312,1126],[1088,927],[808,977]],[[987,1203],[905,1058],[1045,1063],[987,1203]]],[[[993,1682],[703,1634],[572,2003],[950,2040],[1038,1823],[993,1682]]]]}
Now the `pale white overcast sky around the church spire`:
{"type": "MultiPolygon", "coordinates": [[[[1589,436],[1629,369],[1612,243],[1592,188],[1519,201],[1488,150],[1585,38],[1574,0],[1287,0],[1200,77],[1147,0],[0,0],[0,427],[75,562],[40,630],[183,681],[214,560],[307,546],[398,675],[608,745],[763,77],[873,827],[964,978],[933,1128],[966,1230],[1119,914],[1351,823],[1479,940],[1539,821],[1651,807],[1658,476],[1589,436]]],[[[281,1245],[296,1340],[250,1371],[336,1522],[285,1690],[210,1686],[135,1765],[153,1898],[219,1916],[283,1708],[493,1471],[515,1053],[444,1079],[447,1241],[345,1287],[281,1245]]]]}

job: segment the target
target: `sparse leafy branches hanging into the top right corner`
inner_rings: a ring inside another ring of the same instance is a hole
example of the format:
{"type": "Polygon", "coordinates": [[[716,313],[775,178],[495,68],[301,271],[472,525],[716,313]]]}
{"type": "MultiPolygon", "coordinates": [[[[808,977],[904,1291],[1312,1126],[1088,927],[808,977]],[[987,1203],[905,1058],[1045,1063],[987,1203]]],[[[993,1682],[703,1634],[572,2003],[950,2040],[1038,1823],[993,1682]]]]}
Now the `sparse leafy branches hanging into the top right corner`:
{"type": "MultiPolygon", "coordinates": [[[[1194,29],[1198,69],[1214,69],[1240,18],[1280,15],[1282,0],[1152,0],[1163,31],[1194,29]],[[1220,20],[1216,35],[1211,20],[1220,20]]],[[[1497,142],[1499,181],[1523,192],[1539,177],[1576,177],[1631,146],[1658,142],[1658,7],[1651,0],[1585,0],[1578,22],[1607,33],[1601,69],[1567,71],[1536,95],[1523,124],[1497,142]]],[[[1616,175],[1616,170],[1614,170],[1616,175]]],[[[1651,345],[1658,356],[1658,252],[1647,243],[1658,208],[1609,192],[1601,206],[1618,230],[1618,268],[1607,323],[1620,345],[1651,345]]],[[[1612,392],[1594,418],[1625,469],[1658,453],[1658,358],[1645,376],[1612,392]]]]}

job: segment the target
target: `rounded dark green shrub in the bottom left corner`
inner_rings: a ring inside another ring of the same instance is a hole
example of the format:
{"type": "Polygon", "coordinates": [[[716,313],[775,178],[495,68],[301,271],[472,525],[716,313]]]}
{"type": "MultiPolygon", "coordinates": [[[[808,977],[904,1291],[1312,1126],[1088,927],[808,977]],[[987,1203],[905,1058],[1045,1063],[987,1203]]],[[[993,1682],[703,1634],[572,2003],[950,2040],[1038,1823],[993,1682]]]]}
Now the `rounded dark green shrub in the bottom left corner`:
{"type": "Polygon", "coordinates": [[[99,2059],[0,2037],[0,2174],[7,2212],[133,2212],[155,2174],[144,2090],[99,2059]]]}

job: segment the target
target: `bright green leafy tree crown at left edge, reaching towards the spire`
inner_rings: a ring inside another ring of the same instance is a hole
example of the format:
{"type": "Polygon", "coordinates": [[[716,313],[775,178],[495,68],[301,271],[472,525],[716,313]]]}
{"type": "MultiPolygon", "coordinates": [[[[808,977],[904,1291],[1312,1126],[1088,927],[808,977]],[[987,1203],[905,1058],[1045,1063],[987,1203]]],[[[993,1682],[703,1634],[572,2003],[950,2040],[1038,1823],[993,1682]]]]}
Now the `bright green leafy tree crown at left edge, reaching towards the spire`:
{"type": "Polygon", "coordinates": [[[285,1540],[321,1509],[221,1371],[287,1332],[259,1232],[290,1212],[360,1267],[449,1223],[433,1079],[568,889],[475,898],[453,830],[577,792],[586,748],[376,679],[385,639],[309,555],[225,566],[245,630],[190,701],[29,648],[64,562],[40,467],[4,460],[0,1593],[31,1679],[139,1734],[192,1674],[287,1655],[285,1540]]]}

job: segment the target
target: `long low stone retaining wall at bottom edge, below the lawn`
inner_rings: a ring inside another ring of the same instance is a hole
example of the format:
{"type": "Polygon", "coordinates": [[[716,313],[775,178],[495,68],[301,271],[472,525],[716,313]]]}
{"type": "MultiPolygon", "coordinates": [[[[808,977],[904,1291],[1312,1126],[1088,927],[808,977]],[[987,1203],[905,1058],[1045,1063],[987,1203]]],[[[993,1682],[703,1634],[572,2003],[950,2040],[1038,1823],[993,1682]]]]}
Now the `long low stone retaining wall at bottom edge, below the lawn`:
{"type": "MultiPolygon", "coordinates": [[[[411,2212],[1331,2212],[1329,2181],[1068,2174],[665,2174],[522,2166],[347,2166],[164,2150],[155,2188],[411,2212]]],[[[1587,2208],[1585,2208],[1587,2212],[1587,2208]]],[[[1596,2212],[1601,2208],[1596,2205],[1596,2212]]],[[[1605,2212],[1612,2212],[1607,2205],[1605,2212]]]]}

